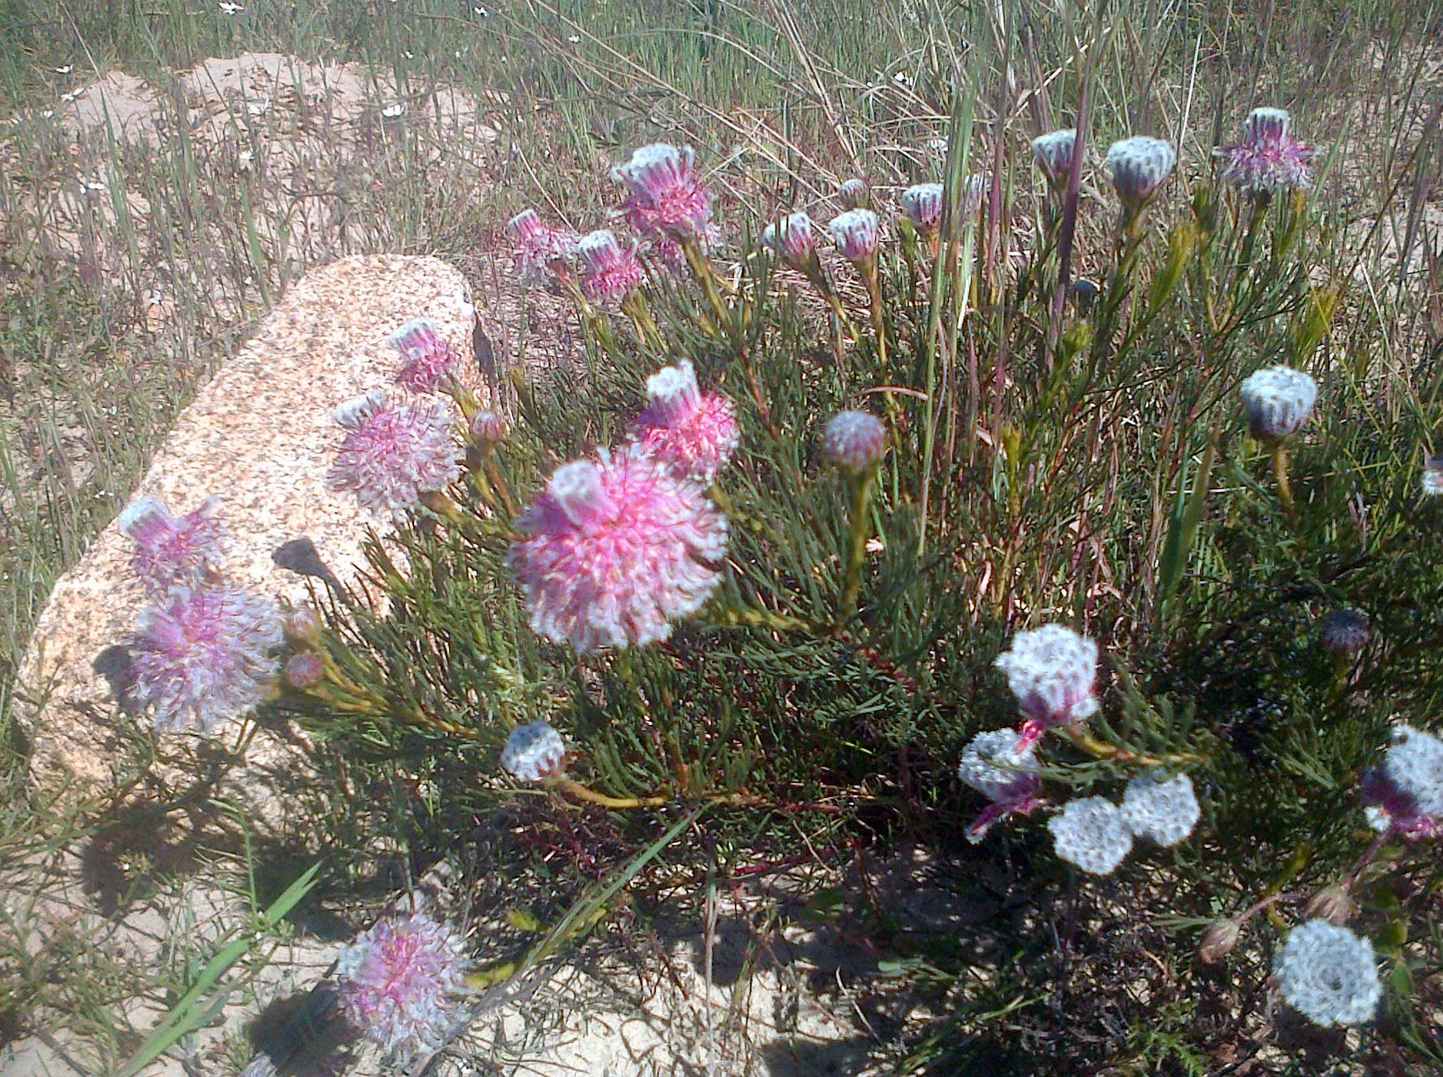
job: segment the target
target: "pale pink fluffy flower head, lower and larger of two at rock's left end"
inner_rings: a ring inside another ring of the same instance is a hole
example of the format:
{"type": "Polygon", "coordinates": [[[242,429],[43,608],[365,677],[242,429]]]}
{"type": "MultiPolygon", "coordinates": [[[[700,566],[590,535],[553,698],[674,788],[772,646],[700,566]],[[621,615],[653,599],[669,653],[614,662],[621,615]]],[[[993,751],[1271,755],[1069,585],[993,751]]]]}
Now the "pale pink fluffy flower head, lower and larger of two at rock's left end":
{"type": "Polygon", "coordinates": [[[283,638],[268,599],[240,588],[180,588],[140,615],[126,700],[156,729],[211,732],[254,710],[274,681],[283,638]]]}

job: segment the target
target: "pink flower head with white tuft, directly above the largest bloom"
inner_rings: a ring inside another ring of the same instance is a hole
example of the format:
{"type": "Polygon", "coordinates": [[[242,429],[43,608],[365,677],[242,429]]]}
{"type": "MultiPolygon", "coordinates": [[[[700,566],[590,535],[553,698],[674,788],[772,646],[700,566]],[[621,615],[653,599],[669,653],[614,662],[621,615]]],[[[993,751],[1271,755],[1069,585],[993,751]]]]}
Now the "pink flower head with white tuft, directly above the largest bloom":
{"type": "Polygon", "coordinates": [[[740,442],[732,401],[697,387],[691,359],[646,378],[646,398],[635,440],[678,475],[710,484],[740,442]]]}

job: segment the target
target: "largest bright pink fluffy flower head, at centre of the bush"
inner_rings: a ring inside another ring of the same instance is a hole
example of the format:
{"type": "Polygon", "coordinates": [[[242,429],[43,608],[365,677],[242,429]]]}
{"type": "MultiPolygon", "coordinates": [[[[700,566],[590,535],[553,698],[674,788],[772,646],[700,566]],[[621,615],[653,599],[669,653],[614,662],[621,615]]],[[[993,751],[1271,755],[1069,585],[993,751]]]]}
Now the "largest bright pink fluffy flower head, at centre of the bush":
{"type": "Polygon", "coordinates": [[[531,628],[580,654],[667,640],[722,582],[726,517],[635,445],[557,468],[519,526],[531,628]]]}

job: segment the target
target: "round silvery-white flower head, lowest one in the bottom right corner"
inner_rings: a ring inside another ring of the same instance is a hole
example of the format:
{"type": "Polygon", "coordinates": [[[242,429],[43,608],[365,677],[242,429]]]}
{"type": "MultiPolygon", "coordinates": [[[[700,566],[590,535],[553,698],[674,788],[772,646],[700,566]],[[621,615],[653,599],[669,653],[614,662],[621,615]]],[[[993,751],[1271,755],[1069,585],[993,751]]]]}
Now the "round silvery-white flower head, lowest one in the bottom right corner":
{"type": "Polygon", "coordinates": [[[1289,933],[1274,974],[1287,1003],[1325,1028],[1371,1021],[1382,998],[1372,943],[1326,920],[1289,933]]]}

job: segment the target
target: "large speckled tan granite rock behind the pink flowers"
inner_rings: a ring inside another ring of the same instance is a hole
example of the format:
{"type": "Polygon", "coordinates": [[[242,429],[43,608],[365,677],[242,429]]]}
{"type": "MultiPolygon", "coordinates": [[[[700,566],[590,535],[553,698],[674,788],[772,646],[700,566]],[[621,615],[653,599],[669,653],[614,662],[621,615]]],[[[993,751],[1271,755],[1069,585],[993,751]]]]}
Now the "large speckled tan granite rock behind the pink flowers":
{"type": "MultiPolygon", "coordinates": [[[[338,403],[391,381],[398,365],[385,336],[410,318],[436,322],[475,372],[476,319],[466,279],[430,257],[342,258],[297,282],[258,333],[201,388],[156,453],[139,494],[186,513],[208,495],[225,530],[227,576],[299,602],[306,580],[271,554],[309,537],[348,582],[361,560],[367,520],[325,478],[339,427],[338,403]]],[[[56,582],[19,673],[22,729],[33,741],[32,774],[114,778],[121,756],[115,705],[94,663],[134,625],[141,592],[133,544],[111,523],[56,582]]]]}

